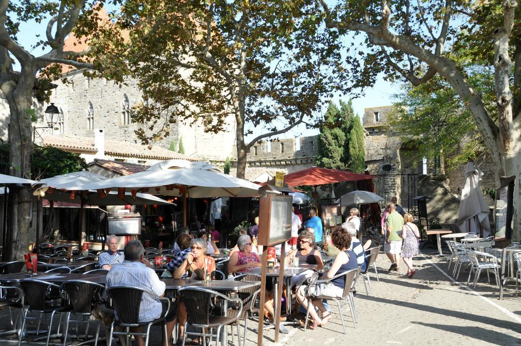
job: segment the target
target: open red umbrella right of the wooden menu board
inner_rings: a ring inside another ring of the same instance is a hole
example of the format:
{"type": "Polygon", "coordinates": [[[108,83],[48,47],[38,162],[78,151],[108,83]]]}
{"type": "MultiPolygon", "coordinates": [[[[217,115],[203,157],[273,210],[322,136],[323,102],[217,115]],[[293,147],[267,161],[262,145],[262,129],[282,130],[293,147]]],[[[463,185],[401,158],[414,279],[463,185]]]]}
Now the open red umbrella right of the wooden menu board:
{"type": "Polygon", "coordinates": [[[311,167],[284,176],[284,183],[290,188],[294,186],[314,186],[315,187],[315,207],[318,208],[317,186],[343,181],[356,181],[373,179],[374,176],[348,172],[345,170],[329,169],[321,167],[311,167]]]}

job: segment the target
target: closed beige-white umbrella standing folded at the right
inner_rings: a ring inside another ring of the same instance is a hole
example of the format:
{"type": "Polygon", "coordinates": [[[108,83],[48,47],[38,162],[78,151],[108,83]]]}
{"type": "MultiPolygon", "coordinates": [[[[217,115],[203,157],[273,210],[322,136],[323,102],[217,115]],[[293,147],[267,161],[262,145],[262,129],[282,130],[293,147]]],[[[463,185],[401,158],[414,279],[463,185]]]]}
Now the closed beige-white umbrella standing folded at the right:
{"type": "Polygon", "coordinates": [[[467,163],[457,222],[461,232],[474,232],[481,234],[482,237],[488,237],[490,236],[489,208],[479,186],[482,176],[483,172],[473,162],[467,163]]]}

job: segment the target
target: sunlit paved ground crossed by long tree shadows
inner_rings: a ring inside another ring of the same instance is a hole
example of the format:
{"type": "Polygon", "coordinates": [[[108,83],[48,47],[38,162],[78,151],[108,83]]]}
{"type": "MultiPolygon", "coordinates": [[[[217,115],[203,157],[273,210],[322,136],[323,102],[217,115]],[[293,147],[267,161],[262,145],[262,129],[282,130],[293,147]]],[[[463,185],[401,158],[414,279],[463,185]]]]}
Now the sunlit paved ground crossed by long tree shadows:
{"type": "MultiPolygon", "coordinates": [[[[388,273],[389,261],[380,253],[377,259],[380,281],[373,273],[373,295],[366,295],[359,282],[355,302],[358,324],[353,327],[347,306],[343,307],[348,333],[344,335],[338,309],[332,306],[334,318],[323,328],[304,331],[301,327],[288,326],[289,333],[280,334],[279,344],[338,345],[362,343],[369,345],[519,345],[521,344],[521,293],[514,287],[506,290],[499,300],[499,289],[481,275],[476,289],[468,288],[465,281],[468,271],[462,269],[460,281],[452,280],[446,273],[446,256],[430,253],[415,258],[417,269],[413,279],[405,277],[405,265],[400,271],[388,273]]],[[[0,312],[0,323],[8,322],[5,311],[0,312]]],[[[257,342],[256,323],[249,323],[246,346],[257,342]]],[[[91,328],[94,332],[94,328],[91,328]]],[[[104,331],[102,330],[102,336],[104,331]]],[[[59,340],[55,340],[59,342],[59,340]]],[[[264,333],[264,343],[274,343],[274,331],[264,333]]],[[[0,344],[15,342],[2,337],[0,344]]],[[[75,342],[76,343],[76,342],[75,342]]],[[[22,342],[23,345],[40,344],[22,342]]],[[[98,345],[104,345],[104,342],[98,345]]],[[[135,343],[134,343],[135,344],[135,343]]],[[[152,329],[151,345],[160,344],[160,330],[152,329]]],[[[231,337],[229,338],[231,345],[231,337]]],[[[233,344],[237,345],[237,337],[233,344]]]]}

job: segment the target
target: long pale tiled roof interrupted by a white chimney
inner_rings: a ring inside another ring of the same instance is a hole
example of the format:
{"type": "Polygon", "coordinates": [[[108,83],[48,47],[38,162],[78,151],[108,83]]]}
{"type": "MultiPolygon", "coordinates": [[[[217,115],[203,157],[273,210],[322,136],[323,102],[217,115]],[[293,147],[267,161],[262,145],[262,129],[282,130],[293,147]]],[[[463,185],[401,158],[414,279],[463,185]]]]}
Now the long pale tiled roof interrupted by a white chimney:
{"type": "MultiPolygon", "coordinates": [[[[80,154],[92,154],[97,152],[94,146],[94,138],[61,134],[58,136],[45,137],[43,144],[80,154]]],[[[109,139],[105,139],[105,154],[119,157],[147,158],[156,160],[169,160],[172,158],[179,158],[189,161],[196,160],[195,158],[188,157],[186,155],[179,154],[159,146],[146,146],[109,139]]]]}

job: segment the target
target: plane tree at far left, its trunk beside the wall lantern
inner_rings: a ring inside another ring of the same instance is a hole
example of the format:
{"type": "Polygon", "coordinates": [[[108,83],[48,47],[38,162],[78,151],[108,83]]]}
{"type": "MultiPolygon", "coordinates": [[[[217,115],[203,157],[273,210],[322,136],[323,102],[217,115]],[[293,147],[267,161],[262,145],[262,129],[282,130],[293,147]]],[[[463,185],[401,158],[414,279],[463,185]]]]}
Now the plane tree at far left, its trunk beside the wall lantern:
{"type": "MultiPolygon", "coordinates": [[[[115,48],[122,42],[121,35],[114,32],[113,26],[100,25],[98,9],[101,6],[103,1],[97,0],[0,0],[0,90],[9,105],[10,175],[27,178],[31,175],[33,95],[46,100],[50,93],[49,82],[61,78],[64,65],[101,69],[104,61],[111,60],[111,52],[117,51],[115,48]],[[95,3],[98,5],[94,8],[95,3]],[[21,22],[42,20],[48,20],[44,38],[28,52],[17,42],[19,25],[21,22]],[[65,39],[72,32],[78,38],[92,35],[90,37],[96,38],[95,44],[83,52],[65,51],[65,39]],[[37,47],[47,50],[47,53],[35,55],[38,51],[34,48],[37,47]],[[11,58],[18,62],[20,72],[14,72],[11,58]]],[[[107,77],[116,77],[110,70],[104,73],[107,77]]],[[[16,189],[16,207],[11,215],[11,258],[21,258],[27,249],[28,201],[31,197],[28,189],[16,189]]]]}

